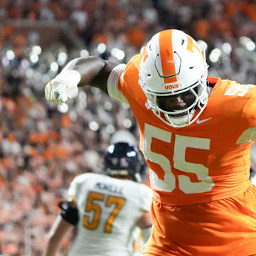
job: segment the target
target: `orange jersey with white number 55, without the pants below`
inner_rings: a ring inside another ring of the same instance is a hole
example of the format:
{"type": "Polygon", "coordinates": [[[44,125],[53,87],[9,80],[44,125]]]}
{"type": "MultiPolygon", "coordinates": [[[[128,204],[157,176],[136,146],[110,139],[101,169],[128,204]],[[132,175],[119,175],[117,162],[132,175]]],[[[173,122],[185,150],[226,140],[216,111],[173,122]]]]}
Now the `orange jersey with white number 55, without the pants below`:
{"type": "Polygon", "coordinates": [[[239,141],[243,132],[256,127],[256,87],[219,79],[197,122],[173,128],[147,108],[138,84],[140,59],[135,55],[129,61],[118,87],[139,124],[154,196],[164,204],[183,205],[245,191],[250,186],[252,142],[239,141]]]}

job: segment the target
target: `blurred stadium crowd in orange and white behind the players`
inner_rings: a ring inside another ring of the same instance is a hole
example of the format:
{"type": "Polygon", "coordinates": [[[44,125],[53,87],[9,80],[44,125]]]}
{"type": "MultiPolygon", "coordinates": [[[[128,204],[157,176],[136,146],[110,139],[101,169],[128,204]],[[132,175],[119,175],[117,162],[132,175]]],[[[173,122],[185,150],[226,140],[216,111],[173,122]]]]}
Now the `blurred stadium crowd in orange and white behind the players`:
{"type": "MultiPolygon", "coordinates": [[[[44,85],[74,54],[126,62],[156,31],[178,28],[201,39],[209,75],[256,80],[256,1],[0,0],[0,21],[9,19],[63,21],[85,48],[43,48],[1,22],[0,255],[40,255],[73,177],[102,171],[115,130],[138,137],[129,106],[98,90],[85,88],[68,105],[46,102],[44,85]]],[[[69,247],[67,238],[63,255],[69,247]]]]}

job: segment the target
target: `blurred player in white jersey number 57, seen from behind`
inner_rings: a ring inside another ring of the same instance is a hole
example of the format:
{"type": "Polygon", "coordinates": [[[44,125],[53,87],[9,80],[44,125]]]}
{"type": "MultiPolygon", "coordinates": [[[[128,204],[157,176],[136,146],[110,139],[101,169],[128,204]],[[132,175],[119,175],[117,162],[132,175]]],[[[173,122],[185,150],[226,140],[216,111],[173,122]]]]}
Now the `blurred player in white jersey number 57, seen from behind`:
{"type": "Polygon", "coordinates": [[[57,255],[64,236],[77,228],[71,256],[131,256],[134,235],[142,229],[146,242],[151,234],[151,189],[139,183],[143,156],[127,142],[111,144],[102,174],[82,174],[70,184],[70,200],[48,234],[46,256],[57,255]]]}

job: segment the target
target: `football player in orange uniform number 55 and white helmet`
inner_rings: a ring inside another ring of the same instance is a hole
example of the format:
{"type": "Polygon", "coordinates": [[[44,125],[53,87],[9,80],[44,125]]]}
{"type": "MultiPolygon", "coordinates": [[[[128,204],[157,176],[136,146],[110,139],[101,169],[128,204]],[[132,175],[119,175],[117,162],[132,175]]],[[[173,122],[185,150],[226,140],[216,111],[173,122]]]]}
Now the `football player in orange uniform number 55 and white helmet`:
{"type": "Polygon", "coordinates": [[[203,50],[178,30],[156,33],[127,65],[72,60],[46,99],[65,102],[83,85],[127,102],[139,124],[154,190],[144,255],[256,255],[255,85],[209,78],[203,50]]]}

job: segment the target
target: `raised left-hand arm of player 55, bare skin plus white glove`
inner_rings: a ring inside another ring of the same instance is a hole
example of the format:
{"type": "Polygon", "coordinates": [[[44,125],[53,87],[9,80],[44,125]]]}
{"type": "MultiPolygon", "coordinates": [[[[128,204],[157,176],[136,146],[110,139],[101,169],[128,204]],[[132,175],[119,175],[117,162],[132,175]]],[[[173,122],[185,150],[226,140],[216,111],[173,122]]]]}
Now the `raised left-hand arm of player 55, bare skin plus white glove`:
{"type": "Polygon", "coordinates": [[[46,100],[66,102],[78,96],[78,87],[91,85],[107,93],[107,79],[111,70],[118,65],[99,57],[75,58],[45,89],[46,100]]]}

